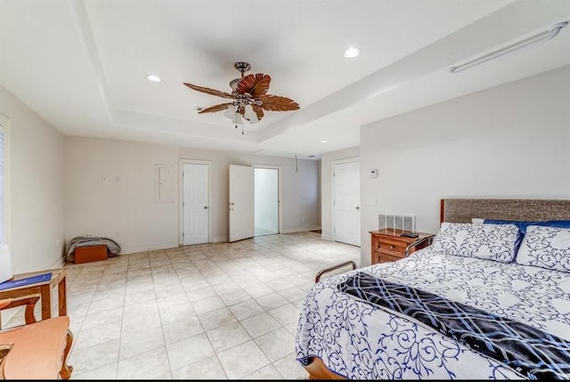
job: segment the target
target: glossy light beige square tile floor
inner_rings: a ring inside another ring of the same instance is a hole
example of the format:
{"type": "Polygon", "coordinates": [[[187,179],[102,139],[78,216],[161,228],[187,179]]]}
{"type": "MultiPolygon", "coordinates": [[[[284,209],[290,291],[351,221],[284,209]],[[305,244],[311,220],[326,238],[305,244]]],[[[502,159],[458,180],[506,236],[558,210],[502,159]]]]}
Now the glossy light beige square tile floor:
{"type": "Polygon", "coordinates": [[[299,232],[68,264],[71,378],[307,378],[299,308],[347,260],[360,248],[299,232]]]}

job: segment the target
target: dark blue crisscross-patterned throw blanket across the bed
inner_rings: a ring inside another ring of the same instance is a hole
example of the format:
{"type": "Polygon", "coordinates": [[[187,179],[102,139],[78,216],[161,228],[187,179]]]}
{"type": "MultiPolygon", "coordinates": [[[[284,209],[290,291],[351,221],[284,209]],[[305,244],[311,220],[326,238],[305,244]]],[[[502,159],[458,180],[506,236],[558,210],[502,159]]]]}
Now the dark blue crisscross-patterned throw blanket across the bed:
{"type": "Polygon", "coordinates": [[[410,316],[525,378],[570,378],[570,343],[541,329],[363,272],[338,289],[410,316]]]}

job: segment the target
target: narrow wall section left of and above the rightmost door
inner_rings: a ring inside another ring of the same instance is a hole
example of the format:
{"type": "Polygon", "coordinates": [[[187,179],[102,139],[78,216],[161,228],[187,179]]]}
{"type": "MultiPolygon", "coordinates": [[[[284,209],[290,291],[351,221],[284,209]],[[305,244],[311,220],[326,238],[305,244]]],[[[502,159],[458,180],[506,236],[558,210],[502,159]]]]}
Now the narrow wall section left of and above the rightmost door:
{"type": "MultiPolygon", "coordinates": [[[[332,165],[336,160],[358,158],[359,147],[330,151],[321,156],[321,237],[332,240],[332,165]]],[[[362,178],[362,175],[361,175],[362,178]]],[[[361,180],[362,183],[362,180],[361,180]]],[[[362,200],[362,199],[361,199],[362,200]]]]}

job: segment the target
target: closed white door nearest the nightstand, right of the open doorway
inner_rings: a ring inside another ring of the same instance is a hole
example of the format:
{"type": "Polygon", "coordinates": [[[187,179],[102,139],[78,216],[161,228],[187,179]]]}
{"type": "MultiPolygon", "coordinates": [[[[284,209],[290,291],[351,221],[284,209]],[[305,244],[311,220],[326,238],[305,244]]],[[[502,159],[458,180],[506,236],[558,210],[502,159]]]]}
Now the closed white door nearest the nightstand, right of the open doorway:
{"type": "Polygon", "coordinates": [[[360,162],[334,166],[334,238],[360,247],[360,162]]]}

